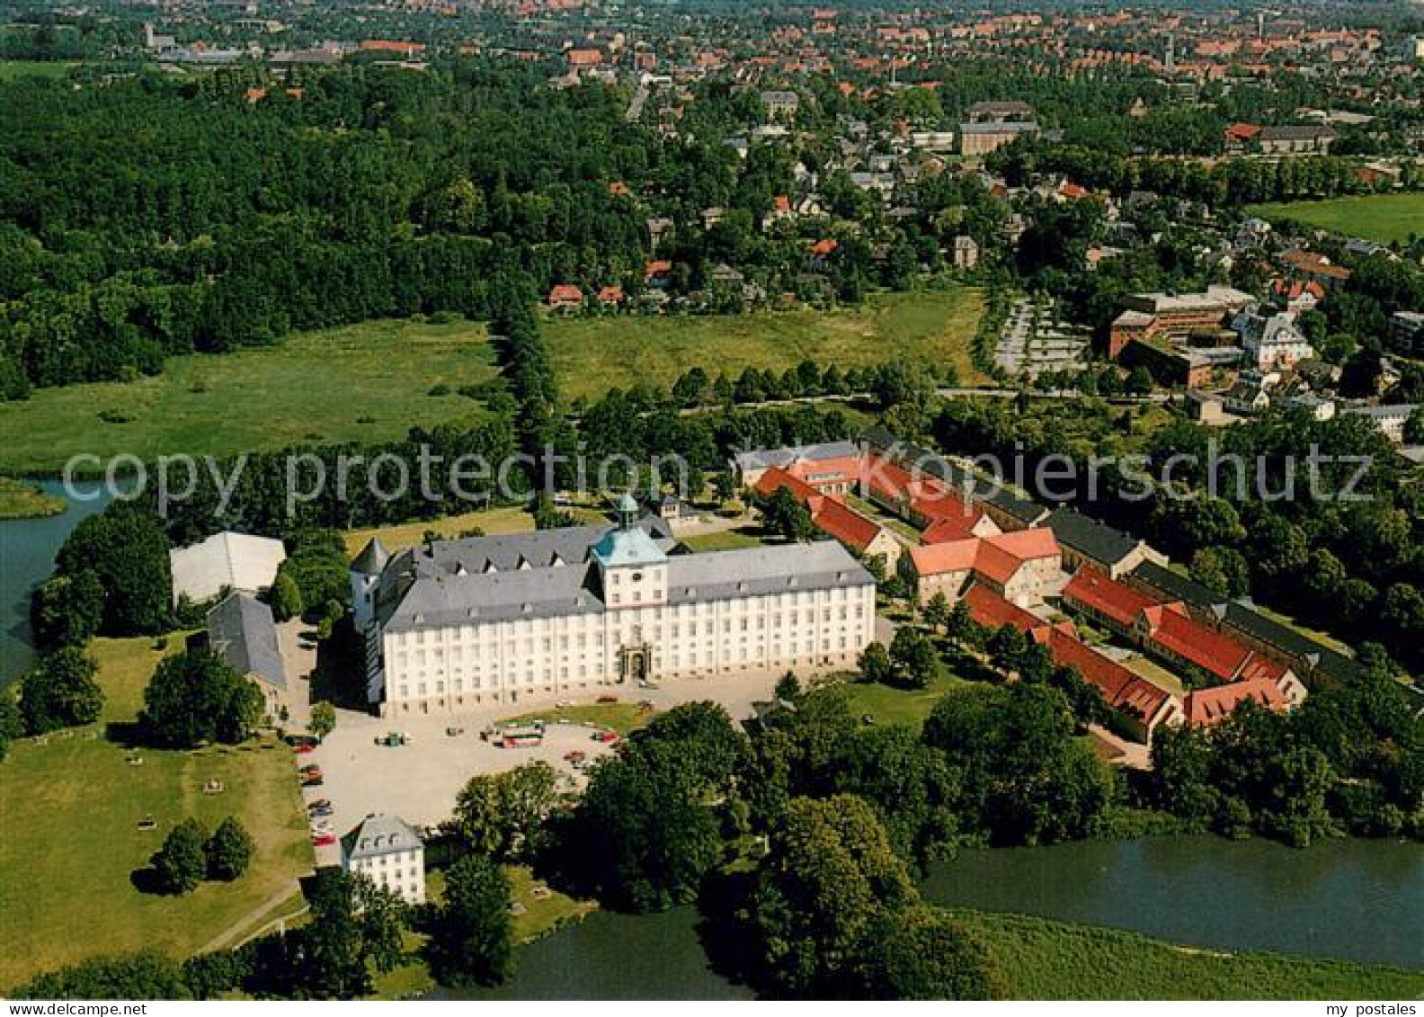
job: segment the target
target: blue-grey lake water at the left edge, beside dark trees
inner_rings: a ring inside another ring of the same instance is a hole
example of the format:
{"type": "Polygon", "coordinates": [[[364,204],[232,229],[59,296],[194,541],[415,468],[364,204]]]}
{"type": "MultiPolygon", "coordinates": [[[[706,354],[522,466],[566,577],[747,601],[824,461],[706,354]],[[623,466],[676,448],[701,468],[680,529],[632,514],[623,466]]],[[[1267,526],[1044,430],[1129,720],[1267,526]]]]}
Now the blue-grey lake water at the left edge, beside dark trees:
{"type": "MultiPolygon", "coordinates": [[[[63,494],[57,480],[37,481],[51,494],[63,494]]],[[[80,494],[98,494],[93,501],[74,501],[60,516],[0,521],[0,685],[23,672],[34,659],[30,644],[30,594],[50,578],[54,556],[80,520],[100,511],[108,501],[103,484],[75,484],[80,494]]]]}

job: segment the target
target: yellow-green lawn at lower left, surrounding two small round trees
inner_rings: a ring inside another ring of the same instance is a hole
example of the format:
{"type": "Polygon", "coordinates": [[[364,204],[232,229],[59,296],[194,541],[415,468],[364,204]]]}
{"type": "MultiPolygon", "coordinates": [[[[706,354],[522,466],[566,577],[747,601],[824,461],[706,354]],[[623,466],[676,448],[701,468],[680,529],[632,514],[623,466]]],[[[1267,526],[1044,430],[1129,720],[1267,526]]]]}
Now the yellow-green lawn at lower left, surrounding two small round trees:
{"type": "Polygon", "coordinates": [[[272,738],[195,752],[142,749],[142,765],[103,735],[131,722],[164,652],[148,640],[98,640],[108,697],[95,726],[44,745],[17,742],[0,763],[0,993],[41,970],[91,954],[154,947],[187,956],[251,922],[312,867],[290,751],[272,738]],[[222,792],[205,795],[209,779],[222,792]],[[152,813],[158,829],[140,830],[152,813]],[[131,882],[181,819],[209,829],[235,815],[256,840],[235,883],[202,883],[184,897],[140,893],[131,882]]]}

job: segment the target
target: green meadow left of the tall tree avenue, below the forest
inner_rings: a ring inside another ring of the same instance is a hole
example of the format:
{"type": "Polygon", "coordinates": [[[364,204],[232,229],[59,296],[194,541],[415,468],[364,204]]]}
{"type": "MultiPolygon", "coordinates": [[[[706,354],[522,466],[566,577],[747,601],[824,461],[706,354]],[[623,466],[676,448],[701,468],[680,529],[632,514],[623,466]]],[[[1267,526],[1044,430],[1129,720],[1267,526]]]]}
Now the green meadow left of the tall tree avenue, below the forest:
{"type": "Polygon", "coordinates": [[[483,326],[367,322],[222,356],[171,358],[135,382],[40,389],[0,403],[0,473],[54,471],[70,456],[222,456],[295,443],[399,439],[480,414],[454,390],[494,377],[483,326]],[[443,383],[450,395],[431,396],[443,383]],[[108,417],[105,420],[104,417],[108,417]]]}

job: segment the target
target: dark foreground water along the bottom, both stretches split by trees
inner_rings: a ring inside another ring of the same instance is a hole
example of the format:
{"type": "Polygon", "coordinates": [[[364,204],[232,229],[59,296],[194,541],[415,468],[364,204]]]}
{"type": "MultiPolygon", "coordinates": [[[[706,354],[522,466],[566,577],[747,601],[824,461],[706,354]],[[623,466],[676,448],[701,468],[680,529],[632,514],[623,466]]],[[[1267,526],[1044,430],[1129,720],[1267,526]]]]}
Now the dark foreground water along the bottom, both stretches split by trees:
{"type": "MultiPolygon", "coordinates": [[[[1424,848],[1331,840],[1293,850],[1212,836],[964,852],[921,892],[947,906],[1131,929],[1220,950],[1424,967],[1424,848]]],[[[431,998],[748,998],[712,971],[691,907],[595,912],[518,950],[504,986],[431,998]]]]}

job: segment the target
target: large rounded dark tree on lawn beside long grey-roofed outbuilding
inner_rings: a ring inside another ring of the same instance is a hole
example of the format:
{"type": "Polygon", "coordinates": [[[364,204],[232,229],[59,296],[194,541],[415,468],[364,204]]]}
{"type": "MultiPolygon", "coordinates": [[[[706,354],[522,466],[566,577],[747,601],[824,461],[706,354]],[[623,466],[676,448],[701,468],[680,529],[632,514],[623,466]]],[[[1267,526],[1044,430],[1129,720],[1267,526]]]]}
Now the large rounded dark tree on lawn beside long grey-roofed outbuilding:
{"type": "Polygon", "coordinates": [[[262,692],[206,647],[159,662],[144,689],[140,722],[157,745],[194,748],[235,745],[262,718],[262,692]]]}

